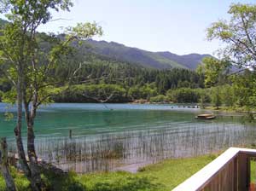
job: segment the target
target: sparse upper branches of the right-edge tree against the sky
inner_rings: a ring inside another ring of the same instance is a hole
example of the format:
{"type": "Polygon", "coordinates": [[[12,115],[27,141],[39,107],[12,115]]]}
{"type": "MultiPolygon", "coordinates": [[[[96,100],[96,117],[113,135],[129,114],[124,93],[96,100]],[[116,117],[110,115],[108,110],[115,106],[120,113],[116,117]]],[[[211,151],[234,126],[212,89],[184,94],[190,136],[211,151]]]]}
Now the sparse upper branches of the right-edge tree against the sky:
{"type": "Polygon", "coordinates": [[[224,49],[219,49],[222,60],[238,67],[255,67],[256,5],[233,3],[228,13],[230,20],[212,23],[207,29],[207,38],[224,42],[224,49]]]}

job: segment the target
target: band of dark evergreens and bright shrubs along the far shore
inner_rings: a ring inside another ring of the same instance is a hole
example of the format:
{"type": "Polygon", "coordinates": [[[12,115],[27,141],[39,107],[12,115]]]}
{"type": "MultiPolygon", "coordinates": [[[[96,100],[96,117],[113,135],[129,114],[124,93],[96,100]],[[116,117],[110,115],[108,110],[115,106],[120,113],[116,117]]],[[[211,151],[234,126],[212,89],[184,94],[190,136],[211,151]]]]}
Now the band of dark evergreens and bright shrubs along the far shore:
{"type": "MultiPolygon", "coordinates": [[[[204,74],[191,70],[137,67],[129,63],[102,60],[92,55],[86,55],[84,59],[86,62],[73,57],[70,63],[62,64],[52,71],[55,78],[63,79],[70,75],[69,71],[81,66],[72,82],[65,84],[63,80],[63,83],[55,87],[55,94],[51,96],[53,101],[96,102],[95,98],[103,99],[112,92],[114,95],[108,102],[130,102],[137,99],[150,100],[151,97],[166,94],[167,90],[204,87],[204,74]]],[[[5,101],[8,92],[12,91],[8,79],[2,79],[0,90],[4,92],[2,100],[5,101]]]]}

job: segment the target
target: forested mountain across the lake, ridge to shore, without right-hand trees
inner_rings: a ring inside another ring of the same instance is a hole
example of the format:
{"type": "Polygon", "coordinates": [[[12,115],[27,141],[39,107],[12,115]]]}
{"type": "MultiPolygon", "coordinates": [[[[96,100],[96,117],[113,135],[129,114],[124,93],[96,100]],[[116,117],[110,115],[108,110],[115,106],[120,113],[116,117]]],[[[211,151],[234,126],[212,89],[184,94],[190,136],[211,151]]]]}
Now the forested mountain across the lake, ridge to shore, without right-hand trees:
{"type": "MultiPolygon", "coordinates": [[[[4,25],[5,21],[0,21],[4,25]]],[[[40,65],[46,63],[44,57],[49,56],[50,49],[64,38],[64,34],[37,33],[38,49],[44,55],[40,57],[40,65]]],[[[58,84],[52,89],[54,93],[51,98],[54,101],[166,101],[164,95],[168,90],[204,87],[204,75],[189,70],[204,55],[191,55],[193,61],[190,62],[189,55],[149,52],[113,42],[90,39],[81,44],[74,42],[72,45],[73,47],[63,50],[67,52],[66,55],[60,56],[58,63],[50,71],[51,77],[58,79],[58,84]],[[72,76],[74,71],[77,71],[75,78],[67,83],[65,79],[72,76]]],[[[0,76],[3,76],[1,70],[0,76]]],[[[12,90],[8,78],[2,78],[0,100],[4,101],[12,90]]]]}

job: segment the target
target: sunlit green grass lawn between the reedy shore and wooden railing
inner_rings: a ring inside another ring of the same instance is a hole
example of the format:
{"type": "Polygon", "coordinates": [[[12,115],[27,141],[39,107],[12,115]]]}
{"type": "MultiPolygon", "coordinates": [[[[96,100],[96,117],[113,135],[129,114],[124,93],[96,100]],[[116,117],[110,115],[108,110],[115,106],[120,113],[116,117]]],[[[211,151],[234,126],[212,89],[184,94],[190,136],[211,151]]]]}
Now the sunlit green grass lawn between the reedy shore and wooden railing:
{"type": "MultiPolygon", "coordinates": [[[[207,165],[215,155],[206,155],[189,159],[166,159],[158,164],[148,165],[137,174],[117,171],[77,175],[70,172],[56,177],[44,174],[47,190],[61,191],[166,191],[172,190],[203,166],[207,165]]],[[[252,180],[256,181],[256,162],[252,162],[252,180]]],[[[19,190],[29,190],[26,178],[12,172],[19,190]]],[[[4,190],[3,177],[0,177],[0,190],[4,190]]]]}

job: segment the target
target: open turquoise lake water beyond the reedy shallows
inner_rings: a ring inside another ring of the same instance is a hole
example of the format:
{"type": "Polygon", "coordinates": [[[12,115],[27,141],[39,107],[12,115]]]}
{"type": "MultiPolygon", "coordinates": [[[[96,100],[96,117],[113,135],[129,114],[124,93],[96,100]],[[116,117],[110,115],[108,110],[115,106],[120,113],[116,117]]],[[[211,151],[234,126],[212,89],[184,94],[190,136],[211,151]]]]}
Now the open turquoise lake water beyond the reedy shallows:
{"type": "MultiPolygon", "coordinates": [[[[0,134],[13,136],[15,118],[5,120],[5,112],[15,112],[0,103],[0,134]]],[[[177,128],[186,124],[202,123],[194,119],[200,109],[177,105],[139,104],[79,104],[55,103],[40,107],[35,122],[37,136],[94,135],[124,130],[177,128]]],[[[211,121],[207,122],[212,123],[211,121]]],[[[26,130],[26,128],[25,128],[26,130]]]]}

